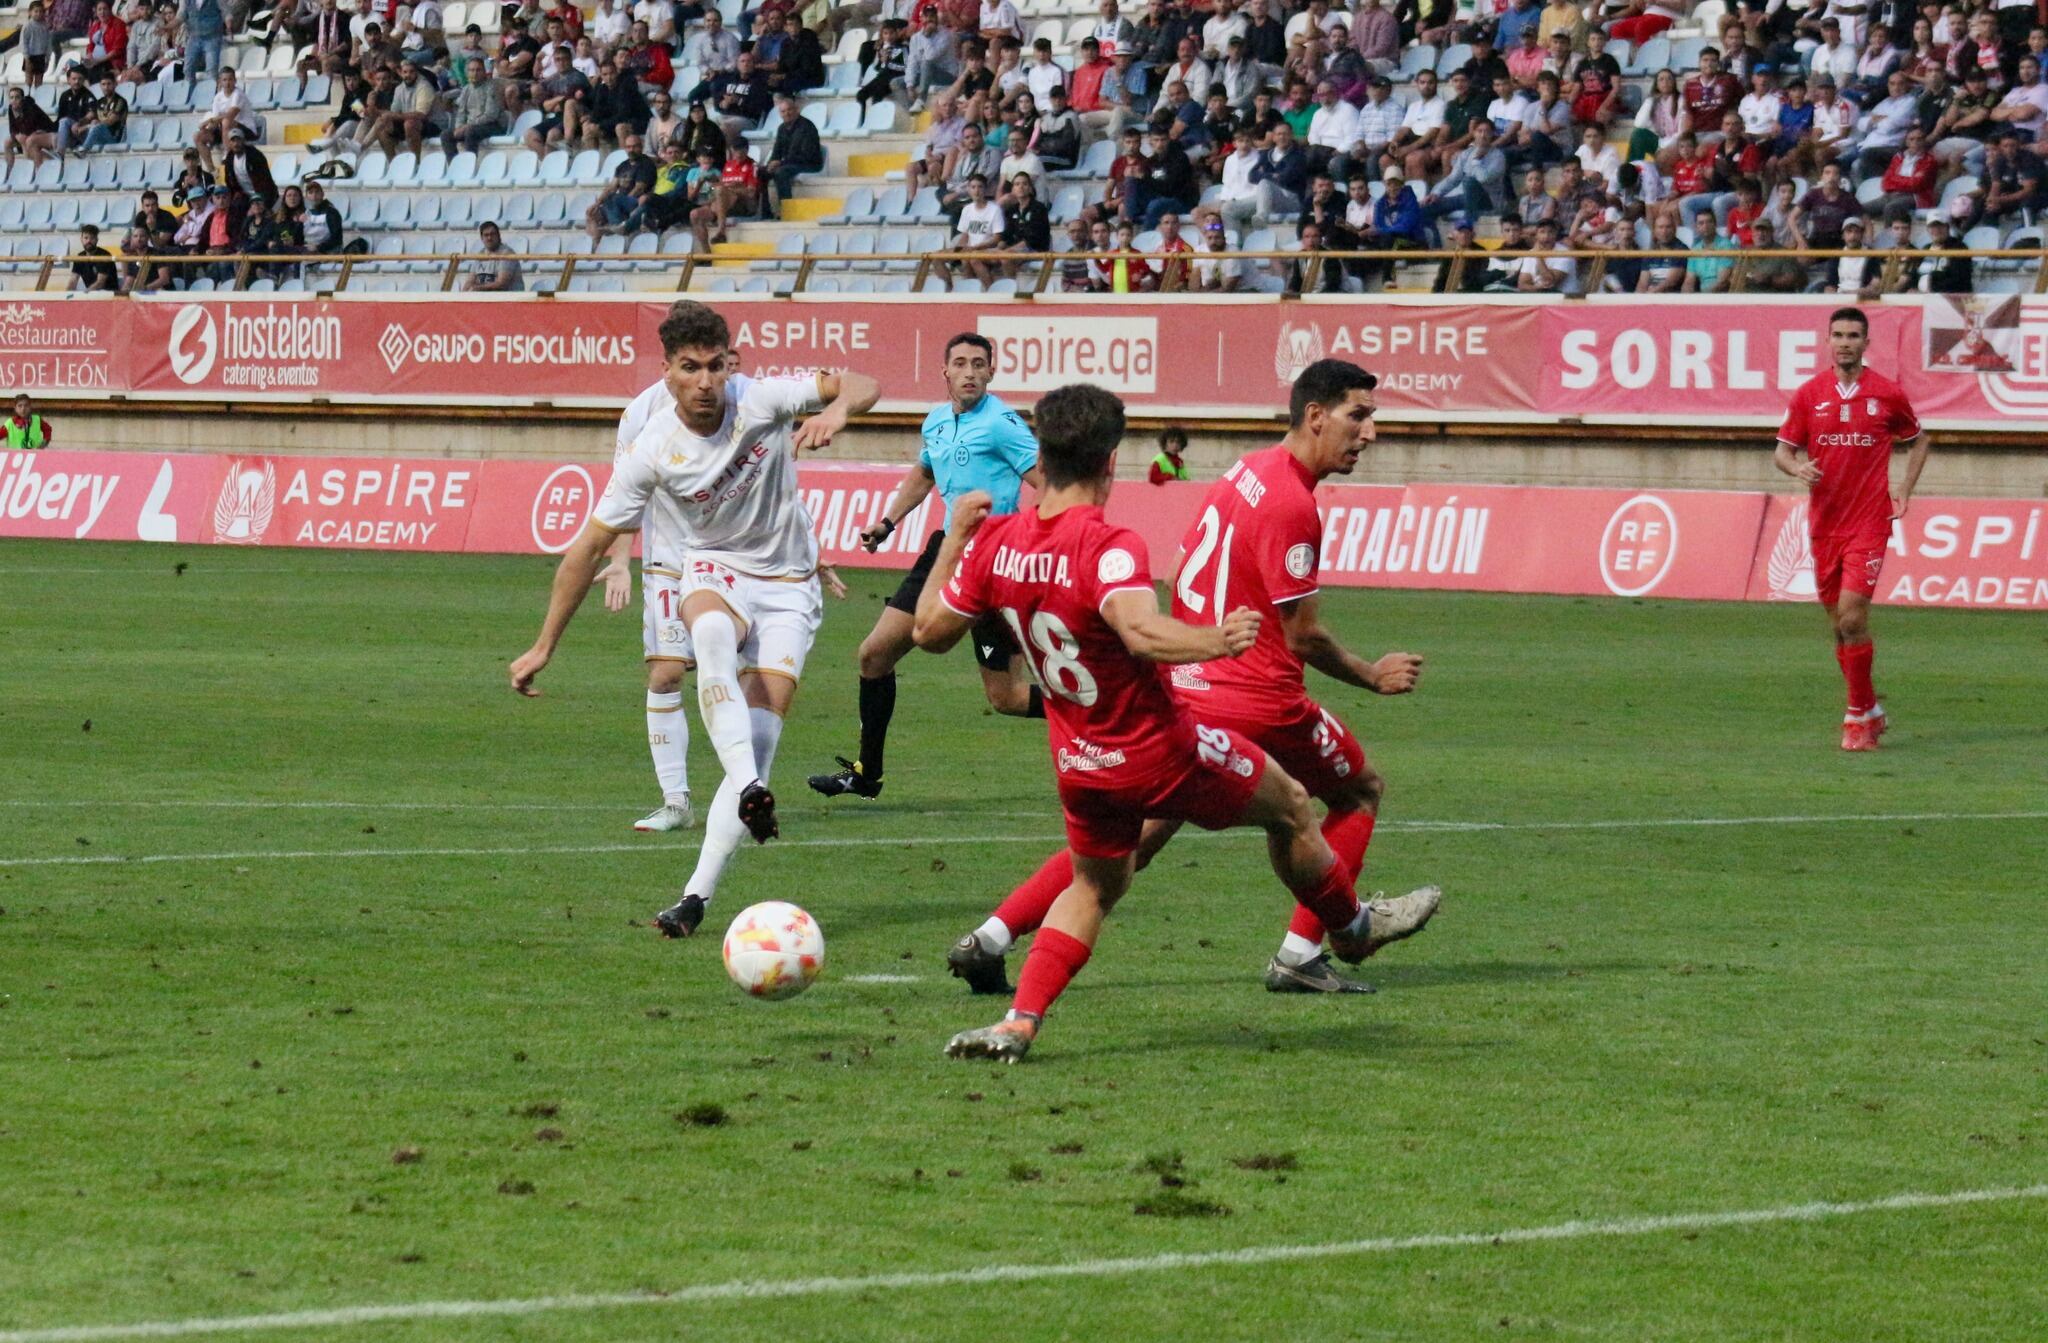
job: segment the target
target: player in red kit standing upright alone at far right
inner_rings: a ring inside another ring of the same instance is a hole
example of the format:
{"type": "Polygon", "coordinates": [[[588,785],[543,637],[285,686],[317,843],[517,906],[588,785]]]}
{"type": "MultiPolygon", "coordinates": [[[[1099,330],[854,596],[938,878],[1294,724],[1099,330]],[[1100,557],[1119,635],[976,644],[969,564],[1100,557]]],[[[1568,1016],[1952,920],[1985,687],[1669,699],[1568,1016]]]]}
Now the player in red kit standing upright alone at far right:
{"type": "Polygon", "coordinates": [[[1874,751],[1888,723],[1870,686],[1876,653],[1870,643],[1870,594],[1884,571],[1892,522],[1907,516],[1927,465],[1927,434],[1898,383],[1864,366],[1870,319],[1862,309],[1835,309],[1827,319],[1827,344],[1835,366],[1792,393],[1774,461],[1786,475],[1806,481],[1810,495],[1812,581],[1835,626],[1835,661],[1849,686],[1841,749],[1874,751]],[[1894,497],[1896,444],[1907,448],[1907,479],[1894,497]]]}

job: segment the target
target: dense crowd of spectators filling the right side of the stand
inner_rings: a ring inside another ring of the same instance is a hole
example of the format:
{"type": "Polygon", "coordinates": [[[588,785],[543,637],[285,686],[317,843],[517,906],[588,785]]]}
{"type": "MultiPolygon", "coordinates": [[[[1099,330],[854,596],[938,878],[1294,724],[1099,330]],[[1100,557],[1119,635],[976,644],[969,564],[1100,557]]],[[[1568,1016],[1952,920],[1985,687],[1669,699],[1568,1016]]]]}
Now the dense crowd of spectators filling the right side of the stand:
{"type": "MultiPolygon", "coordinates": [[[[860,96],[930,109],[909,186],[940,190],[983,280],[1044,248],[1047,176],[1098,139],[1108,182],[1063,244],[1149,260],[1077,258],[1069,291],[1243,287],[1268,262],[1229,252],[1262,223],[1303,250],[1485,252],[1438,274],[1475,291],[1577,293],[1583,254],[1653,242],[1716,256],[1618,256],[1602,289],[1950,291],[1970,264],[1939,254],[2048,205],[2032,0],[1102,0],[1065,51],[1026,43],[1008,0],[897,8],[860,96]],[[1688,20],[1700,41],[1663,37],[1688,20]],[[1769,256],[1855,244],[1927,256],[1769,256]]],[[[1325,291],[1393,270],[1270,266],[1325,291]]]]}

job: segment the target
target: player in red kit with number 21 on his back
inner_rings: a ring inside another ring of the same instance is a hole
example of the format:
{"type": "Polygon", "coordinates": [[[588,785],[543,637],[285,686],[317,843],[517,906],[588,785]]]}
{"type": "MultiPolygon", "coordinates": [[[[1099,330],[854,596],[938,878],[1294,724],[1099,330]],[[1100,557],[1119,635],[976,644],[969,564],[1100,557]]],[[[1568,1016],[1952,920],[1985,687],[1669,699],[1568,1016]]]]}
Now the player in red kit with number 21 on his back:
{"type": "MultiPolygon", "coordinates": [[[[1321,800],[1329,815],[1323,837],[1352,880],[1366,860],[1384,782],[1350,729],[1309,698],[1303,663],[1378,694],[1407,694],[1421,676],[1413,653],[1366,661],[1319,618],[1317,569],[1323,520],[1315,485],[1348,475],[1372,442],[1372,389],[1358,364],[1325,358],[1294,381],[1288,434],[1251,452],[1208,487],[1176,565],[1174,616],[1188,624],[1219,624],[1227,610],[1247,606],[1262,616],[1260,637],[1243,657],[1174,667],[1174,696],[1200,723],[1227,727],[1255,741],[1321,800]]],[[[1145,825],[1137,866],[1143,870],[1180,829],[1176,821],[1145,825]]],[[[1073,876],[1067,852],[1047,860],[997,905],[975,932],[954,942],[946,964],[975,993],[1008,993],[1004,956],[1034,932],[1073,876]]],[[[1419,932],[1436,911],[1440,891],[1423,886],[1399,901],[1370,901],[1374,923],[1419,932]]],[[[1266,966],[1274,993],[1370,993],[1370,985],[1331,968],[1323,954],[1323,923],[1296,905],[1280,952],[1266,966]]]]}

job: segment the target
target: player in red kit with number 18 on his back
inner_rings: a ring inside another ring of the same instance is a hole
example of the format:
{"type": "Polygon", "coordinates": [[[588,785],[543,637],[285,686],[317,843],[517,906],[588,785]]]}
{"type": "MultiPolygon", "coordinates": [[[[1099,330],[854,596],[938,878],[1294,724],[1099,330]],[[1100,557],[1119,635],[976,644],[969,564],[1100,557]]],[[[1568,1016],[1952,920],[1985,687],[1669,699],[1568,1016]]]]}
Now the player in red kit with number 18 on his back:
{"type": "Polygon", "coordinates": [[[1241,655],[1257,641],[1260,616],[1233,610],[1221,624],[1194,626],[1159,614],[1145,543],[1102,516],[1122,401],[1100,387],[1061,387],[1038,401],[1036,420],[1044,493],[993,520],[987,495],[952,506],[913,626],[918,647],[942,653],[991,612],[1010,624],[1044,688],[1073,850],[1073,882],[1032,942],[1010,1013],[954,1036],[946,1046],[954,1058],[1024,1056],[1130,884],[1145,817],[1262,827],[1274,870],[1327,923],[1331,950],[1348,962],[1391,932],[1368,927],[1307,790],[1249,739],[1196,723],[1167,690],[1167,665],[1241,655]]]}

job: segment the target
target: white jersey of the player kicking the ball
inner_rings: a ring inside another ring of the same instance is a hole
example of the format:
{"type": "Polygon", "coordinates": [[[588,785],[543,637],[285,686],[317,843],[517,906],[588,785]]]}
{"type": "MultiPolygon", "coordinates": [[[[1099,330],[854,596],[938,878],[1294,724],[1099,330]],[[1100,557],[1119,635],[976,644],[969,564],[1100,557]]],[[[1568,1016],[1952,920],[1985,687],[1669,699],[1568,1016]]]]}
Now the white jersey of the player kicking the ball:
{"type": "Polygon", "coordinates": [[[709,438],[682,424],[674,401],[657,407],[612,469],[596,522],[627,532],[643,526],[655,500],[666,500],[674,504],[676,538],[690,559],[756,577],[813,573],[817,538],[797,497],[791,428],[819,405],[815,375],[733,375],[725,383],[725,422],[709,438]]]}

